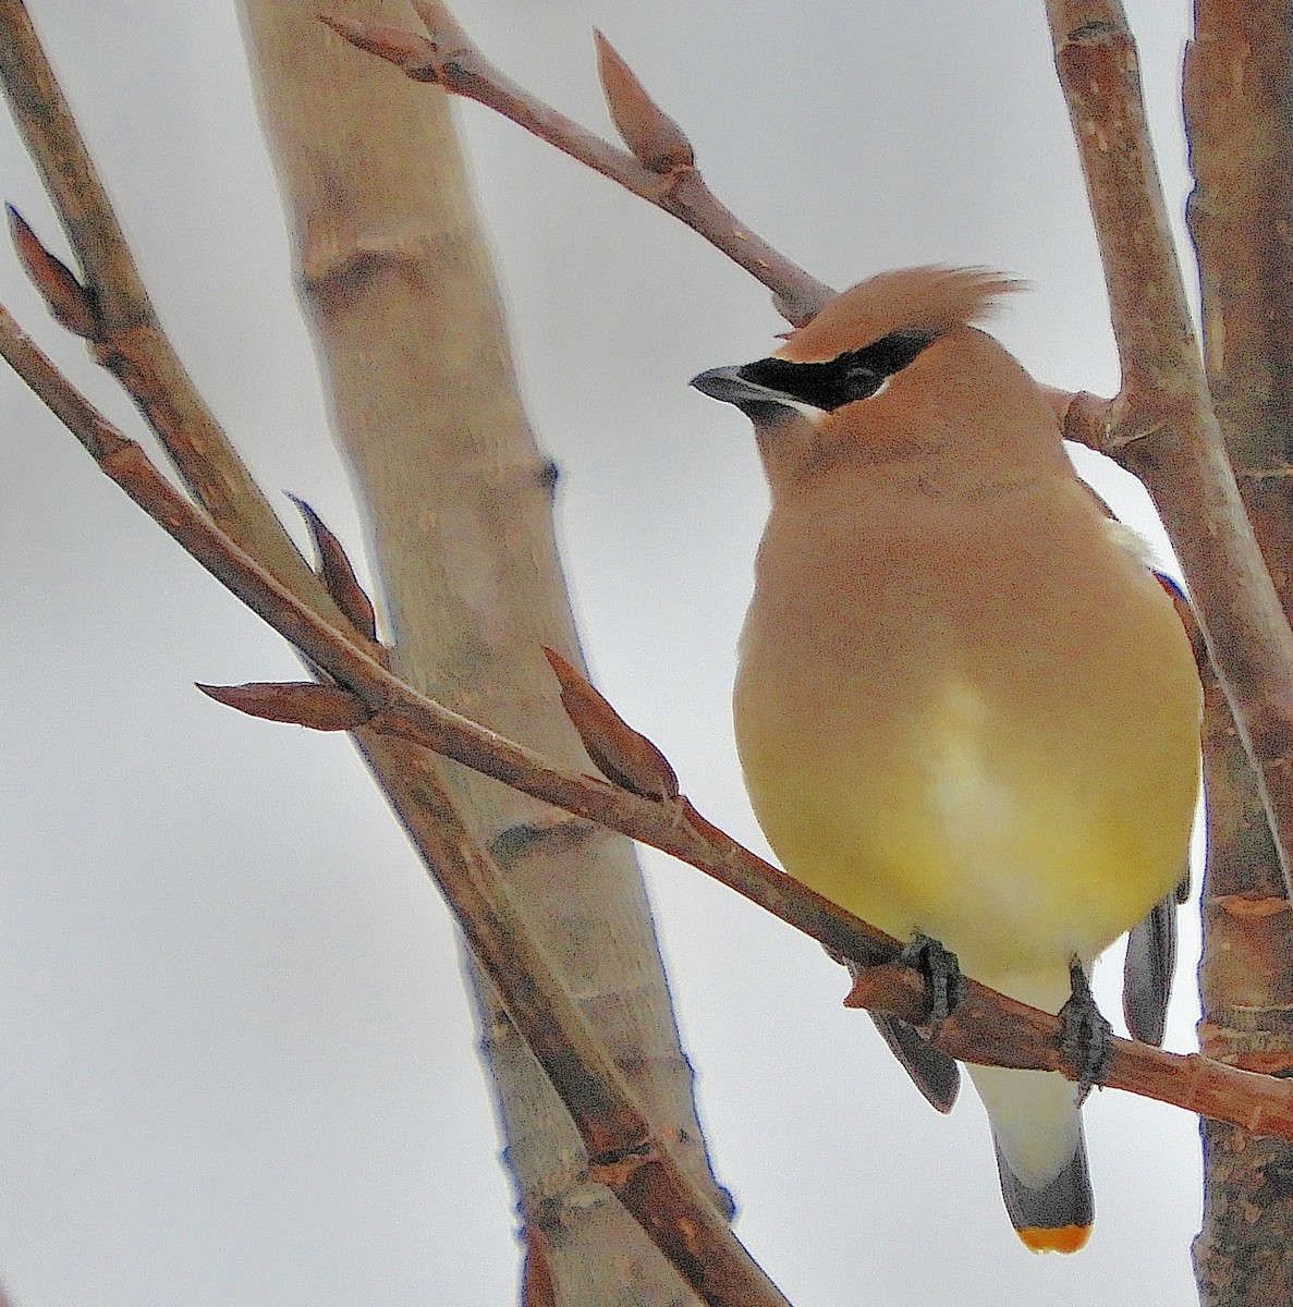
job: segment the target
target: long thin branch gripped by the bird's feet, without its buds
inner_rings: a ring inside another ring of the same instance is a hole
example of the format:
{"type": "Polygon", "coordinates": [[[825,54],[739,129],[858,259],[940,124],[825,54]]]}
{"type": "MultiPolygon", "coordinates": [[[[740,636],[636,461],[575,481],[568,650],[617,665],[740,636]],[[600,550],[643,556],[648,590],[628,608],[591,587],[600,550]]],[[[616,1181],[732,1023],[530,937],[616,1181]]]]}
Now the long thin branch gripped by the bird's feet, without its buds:
{"type": "MultiPolygon", "coordinates": [[[[213,527],[157,472],[139,446],[76,392],[3,310],[0,354],[149,516],[311,663],[362,701],[365,729],[434,749],[690,863],[842,957],[876,968],[854,1001],[916,1025],[923,1021],[923,983],[905,967],[884,965],[897,958],[897,941],[778,872],[710,825],[685,799],[645,799],[553,766],[418,694],[366,652],[354,634],[344,635],[324,622],[213,527]]],[[[1062,1070],[1076,1078],[1059,1052],[1056,1017],[973,980],[966,982],[962,1005],[943,1022],[933,1042],[962,1061],[1062,1070]]],[[[1118,1039],[1103,1082],[1239,1124],[1251,1133],[1293,1138],[1293,1085],[1284,1080],[1118,1039]]]]}

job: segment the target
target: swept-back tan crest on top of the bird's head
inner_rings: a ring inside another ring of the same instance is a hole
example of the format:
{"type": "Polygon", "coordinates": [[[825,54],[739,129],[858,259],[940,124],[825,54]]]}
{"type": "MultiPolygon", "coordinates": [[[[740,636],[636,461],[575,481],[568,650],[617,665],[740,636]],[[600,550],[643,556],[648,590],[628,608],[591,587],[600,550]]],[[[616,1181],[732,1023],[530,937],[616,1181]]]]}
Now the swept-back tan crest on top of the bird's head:
{"type": "Polygon", "coordinates": [[[791,332],[777,358],[820,363],[893,332],[940,336],[987,318],[996,301],[1024,282],[988,268],[903,268],[841,291],[791,332]]]}

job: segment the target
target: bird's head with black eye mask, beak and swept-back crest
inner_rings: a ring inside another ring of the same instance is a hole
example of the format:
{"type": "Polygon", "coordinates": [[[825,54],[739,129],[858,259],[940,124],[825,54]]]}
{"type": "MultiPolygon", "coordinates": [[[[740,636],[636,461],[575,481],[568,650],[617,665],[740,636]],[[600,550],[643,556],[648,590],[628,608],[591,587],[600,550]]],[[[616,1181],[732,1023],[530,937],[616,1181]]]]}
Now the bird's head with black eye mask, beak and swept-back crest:
{"type": "MultiPolygon", "coordinates": [[[[1037,387],[974,329],[1020,282],[982,268],[907,268],[829,301],[774,354],[693,378],[754,423],[769,480],[839,459],[882,461],[1012,425],[1037,387]]],[[[1049,421],[1049,417],[1047,417],[1049,421]]]]}

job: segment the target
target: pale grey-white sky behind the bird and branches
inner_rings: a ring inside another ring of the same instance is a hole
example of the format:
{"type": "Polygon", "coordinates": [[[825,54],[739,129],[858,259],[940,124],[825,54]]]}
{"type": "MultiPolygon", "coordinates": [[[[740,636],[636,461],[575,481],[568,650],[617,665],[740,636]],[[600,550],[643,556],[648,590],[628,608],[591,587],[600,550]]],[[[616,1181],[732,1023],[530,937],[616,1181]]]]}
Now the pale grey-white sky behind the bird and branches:
{"type": "MultiPolygon", "coordinates": [[[[309,498],[358,552],[231,7],[33,8],[216,413],[271,494],[309,498]]],[[[1179,213],[1187,7],[1128,8],[1179,213]]],[[[1041,0],[463,0],[459,16],[597,129],[603,27],[718,193],[814,274],[1003,268],[1034,284],[996,327],[1025,365],[1117,388],[1041,0]]],[[[782,324],[672,220],[477,106],[460,120],[526,397],[563,472],[595,676],[699,808],[761,847],[727,698],[764,488],[745,421],[686,382],[766,353],[782,324]]],[[[7,123],[0,191],[64,248],[7,123]]],[[[3,251],[0,297],[139,431],[3,251]]],[[[515,1302],[511,1195],[443,907],[344,738],[192,689],[297,664],[8,375],[0,622],[0,1278],[18,1307],[515,1302]]],[[[935,1116],[841,1009],[814,944],[646,863],[739,1233],[798,1307],[1190,1299],[1192,1119],[1094,1095],[1094,1236],[1033,1257],[973,1094],[935,1116]]],[[[1177,1048],[1192,1047],[1192,910],[1183,925],[1177,1048]]]]}

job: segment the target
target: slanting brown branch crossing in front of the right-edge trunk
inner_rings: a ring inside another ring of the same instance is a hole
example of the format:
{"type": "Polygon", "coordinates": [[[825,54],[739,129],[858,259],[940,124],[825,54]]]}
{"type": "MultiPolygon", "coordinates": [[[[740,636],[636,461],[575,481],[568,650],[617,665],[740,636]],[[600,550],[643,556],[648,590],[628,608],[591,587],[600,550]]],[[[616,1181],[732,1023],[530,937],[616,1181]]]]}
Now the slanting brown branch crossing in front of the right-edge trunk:
{"type": "Polygon", "coordinates": [[[1293,634],[1212,413],[1135,43],[1118,0],[1049,0],[1047,13],[1122,362],[1109,444],[1144,481],[1171,536],[1293,884],[1293,634]]]}

